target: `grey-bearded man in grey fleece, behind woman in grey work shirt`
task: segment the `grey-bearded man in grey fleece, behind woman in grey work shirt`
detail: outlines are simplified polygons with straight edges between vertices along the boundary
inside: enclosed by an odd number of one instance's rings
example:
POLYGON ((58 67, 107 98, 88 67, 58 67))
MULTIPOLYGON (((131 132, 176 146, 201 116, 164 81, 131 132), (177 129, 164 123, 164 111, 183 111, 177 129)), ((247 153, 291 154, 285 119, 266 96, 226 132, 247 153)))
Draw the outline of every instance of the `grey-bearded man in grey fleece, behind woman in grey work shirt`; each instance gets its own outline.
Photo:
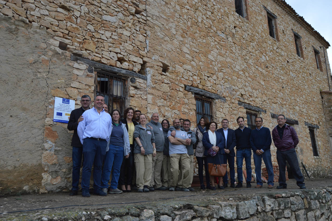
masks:
POLYGON ((161 166, 164 159, 163 151, 165 146, 165 138, 161 123, 159 123, 159 114, 153 113, 151 116, 151 121, 146 125, 152 127, 157 151, 156 156, 152 157, 152 177, 149 190, 154 191, 154 187, 157 190, 166 190, 167 187, 161 185, 161 166))

